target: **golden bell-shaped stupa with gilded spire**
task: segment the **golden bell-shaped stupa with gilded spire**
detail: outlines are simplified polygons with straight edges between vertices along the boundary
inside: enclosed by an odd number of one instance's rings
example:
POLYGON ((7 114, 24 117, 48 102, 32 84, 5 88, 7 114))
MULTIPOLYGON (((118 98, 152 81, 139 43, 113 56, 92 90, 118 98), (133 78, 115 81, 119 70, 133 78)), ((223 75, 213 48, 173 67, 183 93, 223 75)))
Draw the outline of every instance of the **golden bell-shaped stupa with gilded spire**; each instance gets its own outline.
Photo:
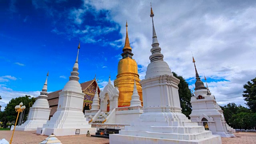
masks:
POLYGON ((123 53, 121 54, 122 60, 118 62, 118 72, 116 80, 114 80, 114 86, 118 87, 119 90, 118 107, 130 106, 134 86, 134 76, 138 94, 142 102, 142 87, 139 83, 140 79, 138 75, 138 66, 136 61, 132 59, 133 54, 132 48, 130 47, 127 27, 128 24, 126 21, 126 38, 123 53))

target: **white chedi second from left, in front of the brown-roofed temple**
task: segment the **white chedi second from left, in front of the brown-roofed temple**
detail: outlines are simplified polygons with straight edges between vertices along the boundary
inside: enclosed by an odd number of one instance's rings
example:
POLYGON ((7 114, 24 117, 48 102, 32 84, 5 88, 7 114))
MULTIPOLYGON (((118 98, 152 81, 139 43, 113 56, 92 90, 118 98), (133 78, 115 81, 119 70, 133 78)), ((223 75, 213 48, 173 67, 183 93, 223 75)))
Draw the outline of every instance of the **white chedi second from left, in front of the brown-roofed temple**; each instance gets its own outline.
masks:
POLYGON ((56 136, 69 136, 77 134, 87 134, 96 132, 96 128, 91 128, 88 121, 84 117, 83 102, 84 93, 82 93, 82 87, 78 82, 78 53, 80 49, 80 42, 78 45, 78 52, 76 62, 69 77, 69 81, 66 83, 61 92, 59 92, 59 101, 57 111, 52 118, 43 125, 42 128, 38 128, 37 134, 56 136))

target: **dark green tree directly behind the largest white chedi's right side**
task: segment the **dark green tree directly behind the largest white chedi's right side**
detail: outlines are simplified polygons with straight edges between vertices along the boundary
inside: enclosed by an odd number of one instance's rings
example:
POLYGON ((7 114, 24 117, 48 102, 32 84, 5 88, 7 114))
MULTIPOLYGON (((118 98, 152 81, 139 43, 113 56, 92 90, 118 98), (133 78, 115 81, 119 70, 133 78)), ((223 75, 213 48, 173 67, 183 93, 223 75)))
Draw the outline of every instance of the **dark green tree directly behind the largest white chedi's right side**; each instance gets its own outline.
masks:
POLYGON ((178 92, 180 96, 180 107, 182 108, 182 113, 185 114, 188 118, 190 118, 189 115, 192 112, 192 106, 190 103, 192 93, 188 88, 188 83, 186 82, 186 80, 182 76, 178 76, 178 74, 176 74, 175 72, 172 73, 173 76, 180 80, 180 83, 178 84, 178 92))

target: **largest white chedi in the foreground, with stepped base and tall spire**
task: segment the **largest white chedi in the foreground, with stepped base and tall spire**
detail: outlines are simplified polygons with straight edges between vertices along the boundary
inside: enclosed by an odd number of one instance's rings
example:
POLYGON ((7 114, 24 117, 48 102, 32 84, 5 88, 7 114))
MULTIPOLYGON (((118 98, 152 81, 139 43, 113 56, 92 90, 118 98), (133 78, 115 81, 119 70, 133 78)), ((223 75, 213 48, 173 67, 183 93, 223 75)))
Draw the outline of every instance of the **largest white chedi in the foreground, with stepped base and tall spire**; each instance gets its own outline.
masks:
POLYGON ((182 114, 175 78, 166 62, 156 37, 153 23, 153 42, 150 64, 141 80, 143 114, 119 134, 110 134, 110 144, 221 144, 220 136, 212 136, 203 126, 191 122, 182 114))

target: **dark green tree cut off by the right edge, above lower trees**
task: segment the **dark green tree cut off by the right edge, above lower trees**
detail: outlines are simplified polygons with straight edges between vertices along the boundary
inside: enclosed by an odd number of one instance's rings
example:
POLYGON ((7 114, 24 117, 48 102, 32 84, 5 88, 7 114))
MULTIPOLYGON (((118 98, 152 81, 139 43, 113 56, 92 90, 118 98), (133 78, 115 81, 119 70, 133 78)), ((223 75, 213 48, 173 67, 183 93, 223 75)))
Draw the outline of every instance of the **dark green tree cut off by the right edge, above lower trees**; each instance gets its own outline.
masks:
POLYGON ((246 101, 246 105, 252 110, 252 112, 256 112, 256 78, 248 81, 247 84, 244 84, 244 100, 246 101))

